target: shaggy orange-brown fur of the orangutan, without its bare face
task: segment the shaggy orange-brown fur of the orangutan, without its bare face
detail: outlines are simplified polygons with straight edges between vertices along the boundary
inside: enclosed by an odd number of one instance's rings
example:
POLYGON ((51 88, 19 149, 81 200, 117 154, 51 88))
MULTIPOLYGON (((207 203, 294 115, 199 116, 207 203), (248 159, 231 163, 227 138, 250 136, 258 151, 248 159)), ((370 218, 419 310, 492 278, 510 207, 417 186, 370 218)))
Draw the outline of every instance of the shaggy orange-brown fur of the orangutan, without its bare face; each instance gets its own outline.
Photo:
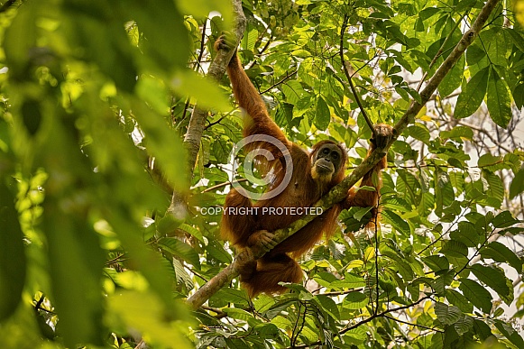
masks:
MULTIPOLYGON (((217 43, 219 43, 217 41, 217 43)), ((311 152, 306 152, 299 145, 290 142, 268 115, 263 104, 262 98, 246 76, 242 69, 240 60, 234 54, 229 63, 227 72, 233 85, 234 96, 238 104, 246 112, 244 121, 244 136, 252 134, 271 135, 282 142, 290 151, 293 161, 293 173, 290 184, 280 195, 271 199, 256 202, 254 205, 250 199, 243 197, 236 190, 232 189, 225 198, 225 208, 227 207, 311 207, 324 194, 344 179, 345 161, 347 155, 342 147, 341 165, 329 177, 315 178, 315 167, 312 159, 316 158, 316 153, 323 144, 334 143, 332 141, 318 142, 311 152)), ((252 144, 253 148, 263 148, 270 151, 275 157, 274 161, 266 164, 263 170, 271 170, 271 175, 275 180, 268 189, 278 186, 284 178, 285 169, 283 168, 282 154, 272 144, 268 142, 258 142, 252 144)), ((372 186, 372 172, 379 172, 386 166, 385 158, 373 170, 368 172, 363 178, 363 185, 372 186)), ((380 184, 377 191, 380 189, 380 184)), ((354 190, 348 192, 348 197, 340 204, 331 207, 321 216, 318 216, 308 225, 291 235, 283 242, 276 245, 269 253, 266 253, 256 262, 245 264, 240 271, 241 282, 249 295, 254 297, 258 293, 283 292, 286 289, 279 285, 280 281, 300 282, 302 280, 302 270, 295 262, 304 253, 307 253, 322 238, 323 234, 329 237, 336 228, 336 219, 340 211, 349 206, 375 206, 378 194, 371 191, 354 190)), ((277 229, 289 226, 299 219, 299 215, 262 215, 262 209, 257 215, 229 215, 227 212, 223 216, 221 234, 223 238, 234 243, 237 248, 251 247, 253 239, 250 236, 261 230, 274 232, 277 229)), ((258 235, 257 235, 258 236, 258 235)), ((256 243, 254 243, 256 244, 256 243)))

